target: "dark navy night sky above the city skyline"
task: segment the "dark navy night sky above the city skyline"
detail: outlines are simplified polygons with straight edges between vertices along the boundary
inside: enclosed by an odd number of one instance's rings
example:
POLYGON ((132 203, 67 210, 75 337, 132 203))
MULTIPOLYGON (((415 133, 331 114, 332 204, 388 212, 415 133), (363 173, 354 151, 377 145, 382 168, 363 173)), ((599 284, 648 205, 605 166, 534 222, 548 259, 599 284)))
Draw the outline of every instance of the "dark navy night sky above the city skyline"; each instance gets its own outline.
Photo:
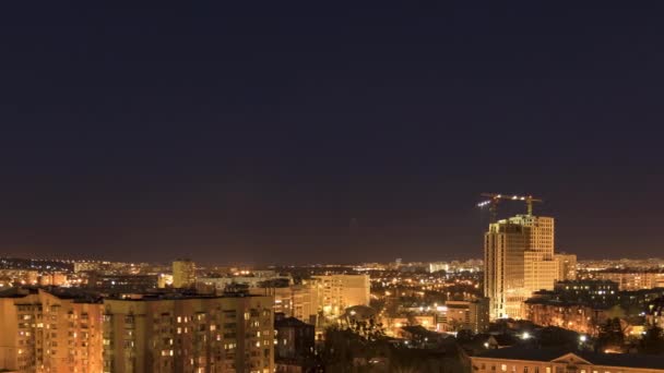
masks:
POLYGON ((501 192, 663 256, 655 1, 103 3, 0 10, 2 255, 479 257, 501 192))

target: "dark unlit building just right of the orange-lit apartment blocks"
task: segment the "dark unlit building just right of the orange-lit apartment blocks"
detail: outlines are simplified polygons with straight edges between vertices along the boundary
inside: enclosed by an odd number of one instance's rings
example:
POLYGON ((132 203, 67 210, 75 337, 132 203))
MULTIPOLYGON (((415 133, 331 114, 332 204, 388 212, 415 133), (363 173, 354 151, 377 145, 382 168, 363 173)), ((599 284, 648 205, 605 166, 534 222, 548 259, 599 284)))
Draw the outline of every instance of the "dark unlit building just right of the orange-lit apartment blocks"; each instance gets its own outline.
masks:
POLYGON ((316 327, 276 313, 274 330, 276 372, 310 372, 316 365, 316 327))

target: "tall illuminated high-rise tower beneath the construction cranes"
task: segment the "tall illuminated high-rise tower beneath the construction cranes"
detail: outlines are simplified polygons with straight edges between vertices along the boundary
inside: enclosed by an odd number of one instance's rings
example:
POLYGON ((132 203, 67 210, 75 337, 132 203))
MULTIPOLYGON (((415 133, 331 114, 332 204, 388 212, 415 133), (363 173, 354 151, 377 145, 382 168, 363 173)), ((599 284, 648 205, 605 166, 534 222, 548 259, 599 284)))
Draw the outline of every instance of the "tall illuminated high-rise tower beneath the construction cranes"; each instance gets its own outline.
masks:
POLYGON ((484 238, 484 294, 491 318, 521 317, 534 291, 553 290, 554 218, 517 215, 489 225, 484 238))

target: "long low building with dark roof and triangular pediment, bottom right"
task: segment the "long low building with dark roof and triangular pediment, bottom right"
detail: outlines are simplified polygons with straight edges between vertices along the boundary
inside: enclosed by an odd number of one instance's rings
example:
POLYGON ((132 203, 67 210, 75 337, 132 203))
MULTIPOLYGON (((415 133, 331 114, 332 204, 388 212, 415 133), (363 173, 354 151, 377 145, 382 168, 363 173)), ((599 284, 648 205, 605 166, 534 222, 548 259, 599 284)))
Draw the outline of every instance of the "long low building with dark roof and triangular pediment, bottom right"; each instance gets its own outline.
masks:
POLYGON ((471 357, 478 373, 647 373, 664 372, 664 357, 631 353, 591 353, 559 349, 509 347, 471 357))

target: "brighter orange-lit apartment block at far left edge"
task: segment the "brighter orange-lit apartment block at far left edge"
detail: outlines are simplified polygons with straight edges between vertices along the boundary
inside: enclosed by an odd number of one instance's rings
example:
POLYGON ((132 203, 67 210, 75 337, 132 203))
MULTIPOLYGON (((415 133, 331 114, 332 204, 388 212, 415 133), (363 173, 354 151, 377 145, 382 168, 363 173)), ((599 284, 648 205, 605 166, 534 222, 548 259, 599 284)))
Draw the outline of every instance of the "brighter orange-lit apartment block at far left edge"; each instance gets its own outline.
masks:
POLYGON ((9 289, 0 293, 0 369, 103 372, 98 300, 84 293, 9 289))

